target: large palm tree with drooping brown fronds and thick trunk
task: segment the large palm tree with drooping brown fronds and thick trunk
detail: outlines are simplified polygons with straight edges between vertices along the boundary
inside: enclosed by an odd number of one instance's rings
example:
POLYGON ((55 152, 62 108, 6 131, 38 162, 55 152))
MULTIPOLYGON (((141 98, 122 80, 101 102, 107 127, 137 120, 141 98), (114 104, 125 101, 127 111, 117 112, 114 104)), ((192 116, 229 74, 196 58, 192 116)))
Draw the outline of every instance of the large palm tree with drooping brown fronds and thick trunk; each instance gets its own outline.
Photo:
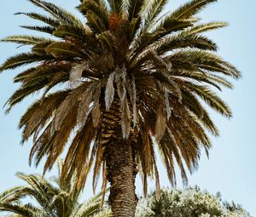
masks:
POLYGON ((211 146, 207 132, 218 135, 205 103, 231 117, 213 88, 231 89, 226 78, 240 77, 201 34, 226 23, 200 23, 195 16, 216 0, 192 0, 166 15, 167 0, 80 0, 85 20, 52 3, 29 1, 48 15, 18 14, 46 25, 22 27, 45 34, 4 38, 30 49, 10 57, 0 71, 33 64, 14 78, 21 86, 7 102, 9 112, 41 93, 19 125, 22 142, 33 137, 30 163, 46 157, 45 172, 67 145, 62 180, 75 172, 75 186, 82 188, 93 168, 95 188, 102 171, 102 188, 111 185, 113 216, 134 216, 137 171, 145 192, 148 176, 159 189, 155 147, 172 184, 175 161, 187 182, 186 168, 192 172, 201 148, 211 146))

